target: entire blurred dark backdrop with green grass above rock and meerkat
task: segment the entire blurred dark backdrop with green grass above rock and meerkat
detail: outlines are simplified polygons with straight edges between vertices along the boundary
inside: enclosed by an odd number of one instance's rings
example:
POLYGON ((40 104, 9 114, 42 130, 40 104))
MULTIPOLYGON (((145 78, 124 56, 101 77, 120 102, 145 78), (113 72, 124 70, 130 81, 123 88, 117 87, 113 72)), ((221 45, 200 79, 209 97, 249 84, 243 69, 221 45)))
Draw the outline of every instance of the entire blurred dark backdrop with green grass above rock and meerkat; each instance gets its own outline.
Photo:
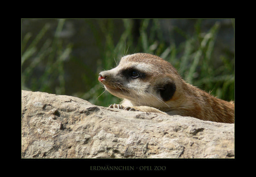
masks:
POLYGON ((98 75, 143 52, 169 61, 188 83, 235 101, 234 32, 234 19, 21 19, 21 89, 118 103, 98 75))

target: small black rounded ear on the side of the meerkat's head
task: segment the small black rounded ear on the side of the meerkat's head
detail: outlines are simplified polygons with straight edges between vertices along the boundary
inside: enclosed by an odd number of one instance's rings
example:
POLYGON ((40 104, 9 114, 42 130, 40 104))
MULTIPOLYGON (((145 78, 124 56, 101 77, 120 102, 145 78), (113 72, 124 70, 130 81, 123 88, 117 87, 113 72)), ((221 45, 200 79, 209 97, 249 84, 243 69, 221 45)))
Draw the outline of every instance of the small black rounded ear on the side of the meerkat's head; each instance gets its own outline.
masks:
POLYGON ((161 88, 159 88, 160 96, 164 101, 168 101, 172 98, 176 90, 176 85, 173 81, 164 83, 161 88))

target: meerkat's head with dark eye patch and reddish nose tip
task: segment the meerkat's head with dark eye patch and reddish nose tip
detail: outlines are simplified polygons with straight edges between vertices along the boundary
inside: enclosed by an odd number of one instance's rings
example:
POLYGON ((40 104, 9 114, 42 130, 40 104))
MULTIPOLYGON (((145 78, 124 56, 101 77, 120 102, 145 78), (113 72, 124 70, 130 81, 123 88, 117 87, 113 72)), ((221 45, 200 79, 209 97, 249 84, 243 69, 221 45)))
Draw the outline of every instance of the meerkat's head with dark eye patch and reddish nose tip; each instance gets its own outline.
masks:
POLYGON ((124 56, 116 68, 100 72, 98 78, 112 95, 152 107, 172 99, 177 79, 179 74, 169 62, 145 53, 124 56))

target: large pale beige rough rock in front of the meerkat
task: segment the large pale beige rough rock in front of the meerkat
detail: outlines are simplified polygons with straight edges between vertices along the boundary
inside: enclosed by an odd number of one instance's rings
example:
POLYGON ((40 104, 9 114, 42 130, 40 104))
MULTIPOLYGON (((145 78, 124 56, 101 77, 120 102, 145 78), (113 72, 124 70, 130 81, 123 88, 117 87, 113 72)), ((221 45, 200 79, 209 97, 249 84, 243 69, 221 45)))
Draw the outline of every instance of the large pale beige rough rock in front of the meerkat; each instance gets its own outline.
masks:
POLYGON ((21 158, 234 158, 234 124, 22 90, 21 158))

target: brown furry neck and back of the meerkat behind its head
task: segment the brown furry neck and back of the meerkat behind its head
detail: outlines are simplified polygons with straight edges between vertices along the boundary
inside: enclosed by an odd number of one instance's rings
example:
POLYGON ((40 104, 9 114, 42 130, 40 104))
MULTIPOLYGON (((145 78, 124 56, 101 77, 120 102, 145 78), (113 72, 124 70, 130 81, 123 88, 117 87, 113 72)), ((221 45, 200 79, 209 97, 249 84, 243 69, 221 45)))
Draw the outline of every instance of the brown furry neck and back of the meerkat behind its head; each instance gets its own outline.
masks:
MULTIPOLYGON (((183 92, 180 93, 182 96, 179 96, 179 98, 182 97, 182 99, 178 98, 175 100, 175 106, 172 104, 172 101, 168 103, 173 114, 176 113, 182 116, 190 116, 215 122, 234 123, 234 119, 230 119, 230 117, 234 118, 235 106, 232 104, 233 102, 218 99, 187 83, 182 87, 183 92), (206 112, 208 116, 205 115, 206 112)), ((165 111, 165 108, 161 111, 165 111)))

